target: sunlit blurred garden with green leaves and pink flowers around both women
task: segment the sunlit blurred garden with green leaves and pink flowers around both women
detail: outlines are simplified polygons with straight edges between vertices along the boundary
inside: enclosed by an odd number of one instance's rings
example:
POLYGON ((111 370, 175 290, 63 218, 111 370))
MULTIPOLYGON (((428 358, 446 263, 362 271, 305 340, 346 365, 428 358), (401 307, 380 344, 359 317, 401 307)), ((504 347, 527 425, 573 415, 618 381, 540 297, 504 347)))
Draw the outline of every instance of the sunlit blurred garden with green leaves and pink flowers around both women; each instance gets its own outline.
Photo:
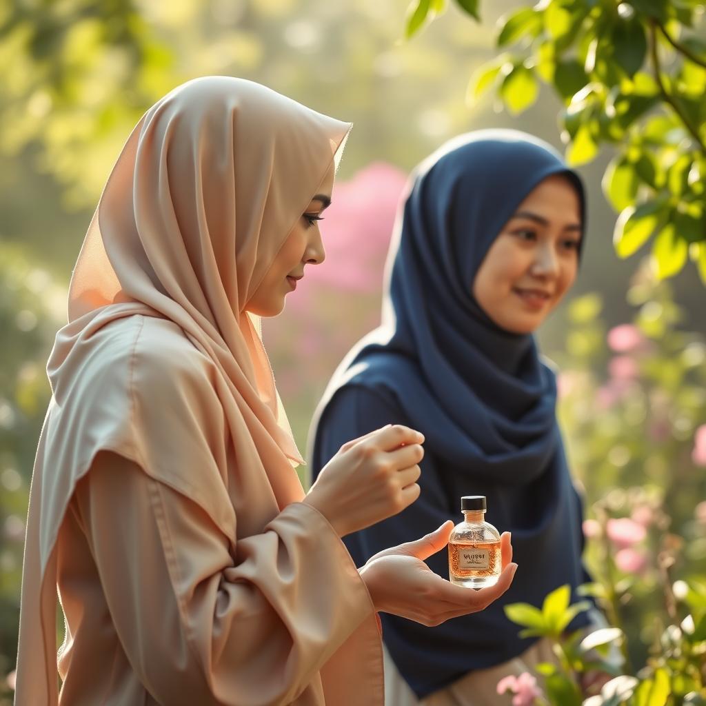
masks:
MULTIPOLYGON (((205 74, 354 122, 321 224, 327 262, 264 324, 302 449, 330 373, 379 321, 409 170, 475 128, 568 152, 587 184, 587 242, 539 341, 561 371, 586 497, 587 592, 616 628, 594 642, 624 658, 614 695, 591 706, 706 703, 703 15, 692 0, 0 0, 0 704, 71 268, 132 126, 205 74)), ((568 662, 546 675, 546 698, 580 704, 570 677, 585 653, 556 637, 568 662)))

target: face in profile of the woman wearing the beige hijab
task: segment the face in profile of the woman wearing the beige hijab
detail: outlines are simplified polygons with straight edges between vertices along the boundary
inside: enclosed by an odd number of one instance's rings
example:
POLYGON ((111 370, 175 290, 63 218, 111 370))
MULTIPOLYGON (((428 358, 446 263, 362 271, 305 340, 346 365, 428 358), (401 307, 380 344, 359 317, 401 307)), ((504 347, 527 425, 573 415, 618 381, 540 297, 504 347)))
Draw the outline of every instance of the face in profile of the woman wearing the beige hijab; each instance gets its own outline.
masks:
POLYGON ((318 229, 321 213, 331 203, 335 166, 329 167, 318 193, 289 232, 268 273, 245 306, 258 316, 277 316, 285 308, 285 297, 304 277, 304 265, 320 265, 326 253, 318 229))

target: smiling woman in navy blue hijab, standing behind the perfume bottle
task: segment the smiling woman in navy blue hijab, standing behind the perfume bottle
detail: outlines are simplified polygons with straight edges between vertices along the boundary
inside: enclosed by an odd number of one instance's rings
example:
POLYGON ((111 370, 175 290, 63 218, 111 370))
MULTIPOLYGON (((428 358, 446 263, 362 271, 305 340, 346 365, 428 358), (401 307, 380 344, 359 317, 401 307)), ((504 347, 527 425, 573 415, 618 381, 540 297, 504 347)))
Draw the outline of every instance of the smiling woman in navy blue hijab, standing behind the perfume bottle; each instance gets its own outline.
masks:
MULTIPOLYGON (((349 438, 388 423, 419 429, 421 496, 346 537, 354 560, 459 522, 461 496, 484 495, 489 522, 512 532, 519 568, 505 596, 481 613, 436 628, 383 615, 388 704, 498 703, 499 678, 552 659, 546 641, 518 637, 503 606, 541 606, 563 584, 575 601, 589 580, 555 373, 532 335, 573 284, 584 237, 579 177, 525 133, 460 136, 409 182, 383 325, 349 353, 321 402, 313 475, 349 438)), ((429 566, 447 577, 445 551, 429 566)), ((588 622, 580 614, 570 628, 588 622)))

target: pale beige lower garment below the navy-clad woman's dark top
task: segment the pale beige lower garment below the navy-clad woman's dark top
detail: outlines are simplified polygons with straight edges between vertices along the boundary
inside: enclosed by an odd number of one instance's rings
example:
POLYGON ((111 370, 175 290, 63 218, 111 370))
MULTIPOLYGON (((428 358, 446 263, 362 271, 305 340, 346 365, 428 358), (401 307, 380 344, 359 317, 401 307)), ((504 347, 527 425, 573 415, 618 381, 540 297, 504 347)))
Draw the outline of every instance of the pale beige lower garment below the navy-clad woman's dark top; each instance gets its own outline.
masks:
POLYGON ((540 662, 554 662, 551 643, 546 638, 538 640, 529 650, 522 652, 510 662, 489 669, 469 672, 446 688, 435 691, 423 700, 418 700, 393 662, 387 648, 383 649, 385 664, 385 706, 505 706, 512 702, 512 695, 498 695, 496 687, 503 676, 520 676, 523 671, 535 674, 534 667, 540 662))

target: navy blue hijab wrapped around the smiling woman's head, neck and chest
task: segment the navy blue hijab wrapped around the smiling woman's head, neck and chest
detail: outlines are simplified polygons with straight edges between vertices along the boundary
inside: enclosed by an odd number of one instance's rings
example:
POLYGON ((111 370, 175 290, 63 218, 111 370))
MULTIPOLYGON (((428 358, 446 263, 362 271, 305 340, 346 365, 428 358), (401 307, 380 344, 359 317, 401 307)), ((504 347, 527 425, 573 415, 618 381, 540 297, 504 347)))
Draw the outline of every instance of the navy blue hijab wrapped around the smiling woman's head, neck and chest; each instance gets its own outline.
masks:
POLYGON ((449 472, 474 479, 527 484, 563 456, 554 372, 532 335, 499 328, 472 295, 503 225, 552 174, 575 187, 585 227, 580 178, 526 133, 468 133, 423 162, 397 220, 383 325, 344 361, 325 400, 343 385, 382 384, 449 472))

